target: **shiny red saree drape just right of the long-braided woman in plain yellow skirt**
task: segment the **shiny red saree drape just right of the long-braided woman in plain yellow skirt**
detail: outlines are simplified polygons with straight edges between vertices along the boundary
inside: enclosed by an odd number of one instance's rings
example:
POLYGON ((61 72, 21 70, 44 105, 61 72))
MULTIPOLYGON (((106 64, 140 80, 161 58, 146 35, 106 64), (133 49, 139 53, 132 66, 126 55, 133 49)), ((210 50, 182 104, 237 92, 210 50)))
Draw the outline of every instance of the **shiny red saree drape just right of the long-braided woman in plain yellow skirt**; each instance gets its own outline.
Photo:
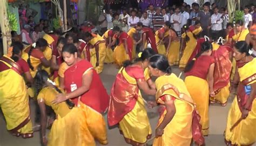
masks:
POLYGON ((230 61, 229 45, 223 45, 212 52, 212 57, 215 60, 214 67, 214 84, 213 90, 219 91, 221 88, 228 85, 230 82, 230 74, 232 69, 232 62, 230 61))

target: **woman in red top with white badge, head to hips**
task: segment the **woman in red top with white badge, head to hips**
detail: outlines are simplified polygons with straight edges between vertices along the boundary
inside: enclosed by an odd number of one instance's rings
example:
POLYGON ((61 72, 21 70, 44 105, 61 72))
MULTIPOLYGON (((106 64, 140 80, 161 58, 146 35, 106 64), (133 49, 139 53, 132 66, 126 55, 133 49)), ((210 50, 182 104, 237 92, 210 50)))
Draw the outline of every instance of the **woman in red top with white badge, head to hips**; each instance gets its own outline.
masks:
POLYGON ((81 101, 98 113, 104 113, 109 105, 109 95, 90 62, 77 57, 77 48, 73 44, 64 46, 62 56, 69 66, 64 72, 67 94, 59 94, 55 103, 71 99, 78 105, 78 101, 81 101))

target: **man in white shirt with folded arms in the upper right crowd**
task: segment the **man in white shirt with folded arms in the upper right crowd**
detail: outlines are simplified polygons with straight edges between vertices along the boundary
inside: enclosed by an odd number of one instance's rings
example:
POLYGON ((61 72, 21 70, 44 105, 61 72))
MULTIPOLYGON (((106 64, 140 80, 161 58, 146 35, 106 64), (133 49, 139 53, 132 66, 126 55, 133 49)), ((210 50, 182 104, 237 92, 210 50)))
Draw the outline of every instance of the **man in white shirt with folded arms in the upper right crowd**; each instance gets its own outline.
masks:
POLYGON ((214 13, 211 16, 212 33, 219 33, 222 30, 223 18, 221 18, 222 15, 219 13, 218 7, 215 7, 213 11, 214 13))

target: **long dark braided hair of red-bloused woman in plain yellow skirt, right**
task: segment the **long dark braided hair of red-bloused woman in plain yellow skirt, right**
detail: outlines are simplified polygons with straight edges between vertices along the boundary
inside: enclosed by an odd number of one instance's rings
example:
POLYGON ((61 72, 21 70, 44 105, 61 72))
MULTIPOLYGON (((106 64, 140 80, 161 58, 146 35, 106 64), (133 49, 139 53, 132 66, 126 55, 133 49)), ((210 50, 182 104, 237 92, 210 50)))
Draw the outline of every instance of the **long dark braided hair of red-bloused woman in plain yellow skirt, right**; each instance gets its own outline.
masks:
MULTIPOLYGON (((201 54, 203 54, 204 52, 208 51, 208 50, 212 50, 212 44, 210 43, 210 41, 207 39, 202 45, 201 45, 201 52, 197 53, 196 57, 194 57, 195 59, 197 59, 198 57, 200 57, 201 54)), ((196 60, 191 60, 190 62, 188 62, 188 64, 186 65, 186 67, 184 68, 184 72, 189 72, 192 67, 194 66, 194 62, 196 60)))

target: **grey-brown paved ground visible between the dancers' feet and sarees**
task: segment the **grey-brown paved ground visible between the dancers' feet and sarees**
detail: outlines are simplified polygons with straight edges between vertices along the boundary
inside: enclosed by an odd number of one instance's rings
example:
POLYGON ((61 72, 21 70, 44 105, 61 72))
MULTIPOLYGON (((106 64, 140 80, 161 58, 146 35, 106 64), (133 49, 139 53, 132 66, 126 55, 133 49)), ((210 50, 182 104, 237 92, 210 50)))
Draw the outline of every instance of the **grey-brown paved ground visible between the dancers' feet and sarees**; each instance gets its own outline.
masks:
MULTIPOLYGON (((110 92, 110 89, 112 87, 112 83, 114 81, 117 71, 118 70, 114 67, 114 65, 105 65, 103 73, 100 74, 103 84, 108 92, 110 92)), ((176 75, 179 75, 180 70, 177 67, 174 67, 173 73, 175 73, 176 75)), ((181 78, 184 79, 184 75, 181 75, 181 78)), ((144 99, 152 100, 153 97, 144 96, 144 99)), ((226 107, 221 107, 218 104, 210 106, 210 113, 209 113, 210 114, 210 135, 206 137, 207 146, 225 145, 223 132, 226 127, 228 109, 230 108, 232 101, 233 101, 233 98, 232 99, 230 98, 226 107)), ((158 121, 158 113, 156 112, 156 108, 154 109, 147 108, 147 112, 150 118, 150 123, 151 123, 153 136, 154 136, 154 129, 158 121)), ((33 105, 33 103, 31 103, 31 113, 32 113, 32 119, 33 119, 35 114, 35 106, 33 105)), ((105 115, 105 119, 106 119, 106 115, 105 115)), ((119 134, 118 128, 112 128, 112 129, 108 128, 107 134, 109 139, 108 145, 111 145, 111 146, 127 145, 125 144, 123 136, 119 134)), ((149 142, 149 144, 151 143, 152 141, 149 142)), ((6 130, 3 115, 0 114, 0 146, 5 146, 5 145, 8 145, 8 146, 40 145, 39 133, 37 132, 34 134, 33 138, 29 138, 25 140, 21 137, 11 136, 6 130)))

